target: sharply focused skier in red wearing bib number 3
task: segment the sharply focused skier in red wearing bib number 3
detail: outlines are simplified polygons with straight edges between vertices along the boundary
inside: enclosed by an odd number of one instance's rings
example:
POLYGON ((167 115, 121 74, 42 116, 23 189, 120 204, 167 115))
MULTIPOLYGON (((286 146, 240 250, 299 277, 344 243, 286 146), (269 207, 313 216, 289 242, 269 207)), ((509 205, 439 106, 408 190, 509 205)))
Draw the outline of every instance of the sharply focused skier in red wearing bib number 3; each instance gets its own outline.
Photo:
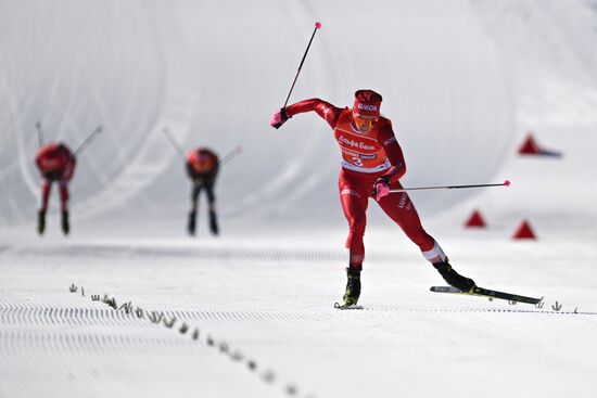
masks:
POLYGON ((352 108, 341 108, 312 99, 277 111, 270 120, 272 127, 279 128, 292 116, 313 111, 333 129, 342 151, 340 201, 350 227, 346 240, 350 249, 346 269, 348 282, 344 304, 356 305, 360 295, 360 271, 365 258, 363 236, 369 197, 373 197, 383 211, 419 246, 423 257, 448 284, 469 292, 475 286, 474 282, 452 268, 437 242, 421 226, 408 194, 389 194, 390 189, 402 188, 399 179, 406 174, 406 164, 392 123, 380 115, 381 101, 381 95, 372 90, 358 90, 352 108))

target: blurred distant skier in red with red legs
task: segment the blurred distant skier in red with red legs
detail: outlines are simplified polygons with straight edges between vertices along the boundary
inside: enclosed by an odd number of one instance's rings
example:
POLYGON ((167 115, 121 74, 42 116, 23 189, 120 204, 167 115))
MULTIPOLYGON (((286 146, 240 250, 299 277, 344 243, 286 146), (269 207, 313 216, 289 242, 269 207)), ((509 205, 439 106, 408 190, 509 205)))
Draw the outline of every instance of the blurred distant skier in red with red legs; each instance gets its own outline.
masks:
POLYGON ((35 163, 43 178, 41 183, 41 208, 37 215, 37 231, 42 234, 46 229, 46 211, 53 182, 59 183, 60 206, 62 210, 62 232, 68 234, 68 182, 75 172, 75 155, 60 142, 52 142, 39 149, 35 163))

